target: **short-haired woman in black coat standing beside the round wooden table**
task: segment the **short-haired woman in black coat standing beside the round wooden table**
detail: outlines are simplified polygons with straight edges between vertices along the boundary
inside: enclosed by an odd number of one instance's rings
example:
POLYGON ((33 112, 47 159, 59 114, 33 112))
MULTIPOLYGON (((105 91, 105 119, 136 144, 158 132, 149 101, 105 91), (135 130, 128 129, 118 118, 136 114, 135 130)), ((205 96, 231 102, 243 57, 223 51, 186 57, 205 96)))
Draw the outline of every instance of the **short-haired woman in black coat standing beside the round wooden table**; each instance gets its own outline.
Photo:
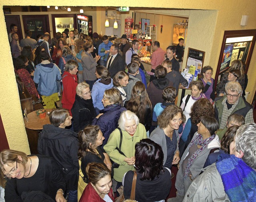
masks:
POLYGON ((66 129, 71 125, 72 116, 66 109, 55 109, 50 113, 51 124, 43 126, 38 138, 38 153, 56 160, 66 181, 68 201, 77 201, 79 164, 77 158, 77 133, 66 129))

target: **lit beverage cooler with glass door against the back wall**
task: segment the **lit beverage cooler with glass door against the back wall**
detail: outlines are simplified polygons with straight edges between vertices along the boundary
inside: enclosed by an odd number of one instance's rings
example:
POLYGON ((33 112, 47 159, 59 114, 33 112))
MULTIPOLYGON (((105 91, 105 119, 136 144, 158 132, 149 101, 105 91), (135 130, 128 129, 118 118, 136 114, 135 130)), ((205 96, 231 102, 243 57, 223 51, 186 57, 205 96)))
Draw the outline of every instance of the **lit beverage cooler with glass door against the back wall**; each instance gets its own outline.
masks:
POLYGON ((77 29, 79 33, 92 37, 92 16, 77 15, 77 29))

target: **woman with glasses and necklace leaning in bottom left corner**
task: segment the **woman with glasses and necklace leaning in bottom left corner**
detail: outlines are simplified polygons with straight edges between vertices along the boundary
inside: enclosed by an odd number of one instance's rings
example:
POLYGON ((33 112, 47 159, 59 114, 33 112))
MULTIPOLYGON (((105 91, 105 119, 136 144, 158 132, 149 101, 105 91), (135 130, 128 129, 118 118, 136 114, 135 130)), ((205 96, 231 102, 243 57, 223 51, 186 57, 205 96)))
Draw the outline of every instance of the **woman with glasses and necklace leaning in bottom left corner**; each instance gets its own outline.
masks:
POLYGON ((34 197, 44 195, 56 202, 66 201, 66 186, 60 169, 55 160, 46 156, 3 150, 0 153, 0 186, 5 188, 6 202, 22 202, 22 198, 31 197, 31 194, 34 197))

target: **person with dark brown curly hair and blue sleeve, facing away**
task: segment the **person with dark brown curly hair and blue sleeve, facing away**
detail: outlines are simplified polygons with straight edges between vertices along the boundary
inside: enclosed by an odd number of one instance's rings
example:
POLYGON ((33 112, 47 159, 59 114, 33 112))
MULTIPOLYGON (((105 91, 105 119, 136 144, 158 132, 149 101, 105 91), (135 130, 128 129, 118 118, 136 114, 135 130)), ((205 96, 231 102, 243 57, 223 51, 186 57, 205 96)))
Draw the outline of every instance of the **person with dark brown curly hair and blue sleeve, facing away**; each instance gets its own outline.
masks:
POLYGON ((197 132, 197 124, 200 122, 202 116, 214 117, 214 108, 209 100, 202 98, 197 100, 191 107, 190 118, 186 122, 182 136, 180 137, 179 150, 180 157, 192 140, 194 134, 197 132))

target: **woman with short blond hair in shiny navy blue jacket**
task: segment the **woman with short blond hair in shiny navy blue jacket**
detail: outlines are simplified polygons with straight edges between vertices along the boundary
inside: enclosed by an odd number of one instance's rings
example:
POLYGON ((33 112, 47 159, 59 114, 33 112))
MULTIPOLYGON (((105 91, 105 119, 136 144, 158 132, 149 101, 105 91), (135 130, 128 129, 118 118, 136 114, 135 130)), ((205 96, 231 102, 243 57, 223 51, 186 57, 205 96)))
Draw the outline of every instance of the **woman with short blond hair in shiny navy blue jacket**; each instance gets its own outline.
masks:
POLYGON ((92 120, 92 125, 100 126, 100 130, 105 138, 102 144, 104 146, 107 144, 110 134, 117 128, 120 115, 126 108, 121 106, 122 98, 119 90, 116 88, 105 90, 102 103, 104 109, 100 110, 101 114, 92 120))

